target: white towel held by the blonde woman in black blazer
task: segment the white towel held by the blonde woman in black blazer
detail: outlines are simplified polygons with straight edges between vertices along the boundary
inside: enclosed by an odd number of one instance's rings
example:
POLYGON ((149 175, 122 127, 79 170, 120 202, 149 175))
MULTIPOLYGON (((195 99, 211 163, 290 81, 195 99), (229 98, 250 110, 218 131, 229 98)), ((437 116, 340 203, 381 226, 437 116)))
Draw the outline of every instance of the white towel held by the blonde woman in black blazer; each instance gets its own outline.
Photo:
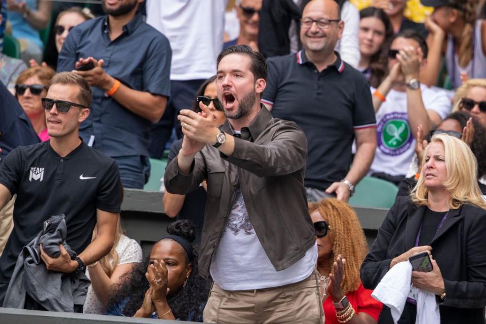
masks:
MULTIPOLYGON (((396 324, 409 295, 412 264, 408 261, 395 264, 381 279, 371 296, 390 307, 396 324)), ((418 291, 416 324, 440 324, 439 306, 432 293, 418 291)))

